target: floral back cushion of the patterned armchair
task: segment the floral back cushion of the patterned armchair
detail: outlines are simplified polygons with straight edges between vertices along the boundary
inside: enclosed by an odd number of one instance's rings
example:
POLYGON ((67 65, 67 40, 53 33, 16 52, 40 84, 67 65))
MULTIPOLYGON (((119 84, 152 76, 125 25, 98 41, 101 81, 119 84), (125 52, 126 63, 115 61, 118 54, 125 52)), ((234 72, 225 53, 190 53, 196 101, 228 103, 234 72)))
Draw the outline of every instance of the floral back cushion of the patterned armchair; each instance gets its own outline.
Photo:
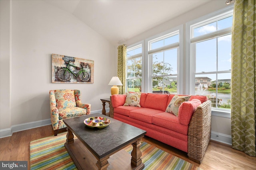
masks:
POLYGON ((54 90, 57 109, 65 109, 68 107, 76 107, 74 90, 54 90))

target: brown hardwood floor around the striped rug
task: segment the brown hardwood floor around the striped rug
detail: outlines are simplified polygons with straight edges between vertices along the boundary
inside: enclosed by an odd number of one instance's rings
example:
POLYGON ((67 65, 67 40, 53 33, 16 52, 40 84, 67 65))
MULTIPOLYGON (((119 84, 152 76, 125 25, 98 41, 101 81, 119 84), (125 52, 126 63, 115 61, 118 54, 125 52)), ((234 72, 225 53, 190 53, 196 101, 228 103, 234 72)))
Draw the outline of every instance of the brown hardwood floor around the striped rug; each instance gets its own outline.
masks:
MULTIPOLYGON (((13 133, 11 137, 0 139, 0 160, 28 161, 30 169, 30 141, 54 135, 51 125, 37 127, 13 133)), ((174 154, 204 170, 256 170, 256 157, 232 149, 231 146, 210 141, 201 164, 188 159, 186 152, 160 143, 149 137, 143 141, 154 145, 166 152, 174 154)))

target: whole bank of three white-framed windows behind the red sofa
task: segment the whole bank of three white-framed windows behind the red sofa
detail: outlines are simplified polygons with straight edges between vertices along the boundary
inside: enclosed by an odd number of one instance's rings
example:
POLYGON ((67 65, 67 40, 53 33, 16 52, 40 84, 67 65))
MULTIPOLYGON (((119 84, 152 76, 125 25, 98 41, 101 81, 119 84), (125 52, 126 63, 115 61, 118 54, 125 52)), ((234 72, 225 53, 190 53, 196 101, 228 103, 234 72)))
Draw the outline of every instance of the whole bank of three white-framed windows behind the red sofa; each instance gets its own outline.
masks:
POLYGON ((186 23, 186 32, 180 25, 128 46, 126 91, 204 95, 219 102, 213 115, 230 117, 233 8, 186 23))

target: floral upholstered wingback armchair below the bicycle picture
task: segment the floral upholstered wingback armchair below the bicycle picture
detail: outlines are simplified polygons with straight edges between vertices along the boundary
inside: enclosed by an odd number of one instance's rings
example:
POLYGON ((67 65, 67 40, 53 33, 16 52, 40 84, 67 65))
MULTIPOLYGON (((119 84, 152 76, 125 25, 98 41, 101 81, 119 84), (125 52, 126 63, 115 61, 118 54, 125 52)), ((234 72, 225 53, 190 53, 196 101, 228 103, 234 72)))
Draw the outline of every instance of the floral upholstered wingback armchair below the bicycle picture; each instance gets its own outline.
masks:
POLYGON ((50 90, 51 121, 54 136, 58 134, 58 129, 66 127, 63 119, 90 114, 91 105, 82 104, 80 98, 80 90, 50 90))

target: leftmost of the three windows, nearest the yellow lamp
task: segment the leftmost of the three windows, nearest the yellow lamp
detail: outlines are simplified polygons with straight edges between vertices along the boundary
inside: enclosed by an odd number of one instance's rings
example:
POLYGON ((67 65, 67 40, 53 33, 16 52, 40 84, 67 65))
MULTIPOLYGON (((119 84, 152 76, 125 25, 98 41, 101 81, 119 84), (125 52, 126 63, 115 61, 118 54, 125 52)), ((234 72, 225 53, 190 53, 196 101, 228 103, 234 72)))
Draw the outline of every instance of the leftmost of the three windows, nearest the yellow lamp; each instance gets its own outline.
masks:
POLYGON ((126 50, 126 92, 141 92, 142 44, 126 50))

